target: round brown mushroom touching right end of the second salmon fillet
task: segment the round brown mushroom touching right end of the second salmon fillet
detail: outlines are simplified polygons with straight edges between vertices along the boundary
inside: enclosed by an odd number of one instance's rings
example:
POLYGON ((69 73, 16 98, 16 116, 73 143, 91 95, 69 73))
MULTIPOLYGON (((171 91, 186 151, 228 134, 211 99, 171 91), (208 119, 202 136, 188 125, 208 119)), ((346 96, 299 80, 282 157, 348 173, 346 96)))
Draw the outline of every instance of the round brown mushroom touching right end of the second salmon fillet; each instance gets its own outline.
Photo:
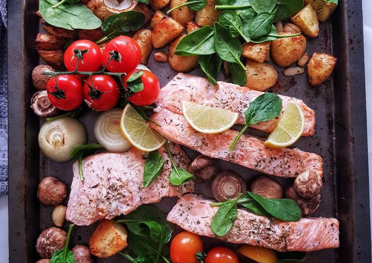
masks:
POLYGON ((316 172, 306 171, 297 176, 294 187, 299 195, 312 198, 319 195, 323 188, 323 182, 316 172))

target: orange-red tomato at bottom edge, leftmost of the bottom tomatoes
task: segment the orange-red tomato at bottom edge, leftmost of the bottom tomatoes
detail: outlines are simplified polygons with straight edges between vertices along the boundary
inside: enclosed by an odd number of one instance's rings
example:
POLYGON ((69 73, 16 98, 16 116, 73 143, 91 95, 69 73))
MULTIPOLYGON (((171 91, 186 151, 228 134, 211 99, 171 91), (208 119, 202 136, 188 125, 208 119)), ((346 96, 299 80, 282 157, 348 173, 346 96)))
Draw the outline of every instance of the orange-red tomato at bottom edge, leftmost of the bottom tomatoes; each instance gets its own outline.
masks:
POLYGON ((170 243, 172 263, 199 263, 195 253, 201 251, 203 251, 202 239, 187 231, 177 234, 170 243))

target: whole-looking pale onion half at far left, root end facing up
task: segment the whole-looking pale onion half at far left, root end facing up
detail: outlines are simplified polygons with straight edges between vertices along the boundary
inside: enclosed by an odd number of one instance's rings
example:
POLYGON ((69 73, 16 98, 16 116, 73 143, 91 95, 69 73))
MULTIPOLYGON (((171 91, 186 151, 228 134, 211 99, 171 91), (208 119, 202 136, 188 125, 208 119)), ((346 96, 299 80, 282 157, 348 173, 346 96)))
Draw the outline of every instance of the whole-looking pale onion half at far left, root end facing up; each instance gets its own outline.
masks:
POLYGON ((87 143, 87 131, 83 124, 71 117, 45 122, 39 132, 42 152, 56 162, 71 160, 72 151, 87 143))

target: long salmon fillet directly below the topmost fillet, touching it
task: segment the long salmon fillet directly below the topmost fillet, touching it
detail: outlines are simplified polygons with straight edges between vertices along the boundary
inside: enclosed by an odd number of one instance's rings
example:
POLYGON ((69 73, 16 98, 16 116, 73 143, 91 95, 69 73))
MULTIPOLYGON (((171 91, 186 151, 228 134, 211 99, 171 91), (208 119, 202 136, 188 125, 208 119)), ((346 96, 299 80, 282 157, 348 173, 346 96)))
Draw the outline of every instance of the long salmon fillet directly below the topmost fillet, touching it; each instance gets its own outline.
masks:
POLYGON ((297 177, 305 171, 323 175, 323 162, 319 155, 299 149, 271 149, 262 139, 243 135, 233 151, 229 146, 238 134, 227 130, 219 134, 203 134, 195 131, 183 115, 161 109, 151 119, 161 127, 150 123, 151 128, 173 142, 182 144, 203 155, 229 161, 247 168, 281 177, 297 177))

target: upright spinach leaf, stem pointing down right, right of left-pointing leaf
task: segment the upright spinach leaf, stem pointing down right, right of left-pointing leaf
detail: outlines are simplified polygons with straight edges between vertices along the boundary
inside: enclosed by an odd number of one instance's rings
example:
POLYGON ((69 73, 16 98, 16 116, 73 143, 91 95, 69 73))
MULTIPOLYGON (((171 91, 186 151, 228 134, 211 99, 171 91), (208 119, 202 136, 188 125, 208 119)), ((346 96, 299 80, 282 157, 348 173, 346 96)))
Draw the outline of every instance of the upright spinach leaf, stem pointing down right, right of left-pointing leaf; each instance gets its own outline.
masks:
POLYGON ((243 70, 246 70, 240 61, 242 44, 238 39, 231 38, 227 28, 217 22, 214 23, 214 48, 222 60, 239 64, 243 70))

